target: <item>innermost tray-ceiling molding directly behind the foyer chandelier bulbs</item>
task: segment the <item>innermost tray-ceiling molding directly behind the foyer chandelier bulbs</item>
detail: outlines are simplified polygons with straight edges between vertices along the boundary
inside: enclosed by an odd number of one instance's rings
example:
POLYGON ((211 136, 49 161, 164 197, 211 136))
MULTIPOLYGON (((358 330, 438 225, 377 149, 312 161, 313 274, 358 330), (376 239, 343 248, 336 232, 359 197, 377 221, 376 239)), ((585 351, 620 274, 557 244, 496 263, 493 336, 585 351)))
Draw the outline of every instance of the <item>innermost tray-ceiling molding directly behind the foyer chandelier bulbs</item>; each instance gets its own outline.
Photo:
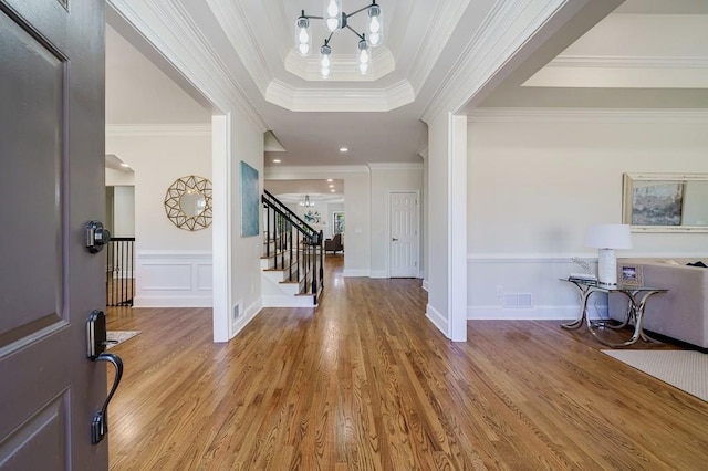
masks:
POLYGON ((372 54, 372 72, 362 75, 358 72, 358 59, 355 54, 332 54, 332 76, 322 78, 317 54, 301 56, 290 50, 285 56, 285 70, 308 82, 374 82, 396 70, 396 59, 386 46, 376 48, 372 54))

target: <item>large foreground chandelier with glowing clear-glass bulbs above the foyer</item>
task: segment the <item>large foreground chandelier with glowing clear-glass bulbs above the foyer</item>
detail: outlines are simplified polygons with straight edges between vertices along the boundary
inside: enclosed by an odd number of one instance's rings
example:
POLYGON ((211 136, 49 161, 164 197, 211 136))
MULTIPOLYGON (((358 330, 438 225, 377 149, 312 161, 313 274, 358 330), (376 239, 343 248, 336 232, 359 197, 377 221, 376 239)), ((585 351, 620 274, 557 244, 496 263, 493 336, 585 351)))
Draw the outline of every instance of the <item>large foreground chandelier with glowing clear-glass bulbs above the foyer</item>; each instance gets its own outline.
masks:
POLYGON ((331 62, 330 54, 332 48, 330 46, 330 40, 335 32, 348 29, 358 38, 357 43, 357 60, 358 71, 362 75, 366 75, 372 70, 372 57, 369 48, 375 48, 382 44, 384 21, 382 15, 382 9, 376 4, 376 0, 373 0, 369 6, 360 8, 353 13, 345 13, 342 10, 342 0, 324 0, 324 14, 322 17, 313 17, 305 14, 302 10, 302 14, 298 18, 295 28, 295 49, 302 56, 310 54, 312 50, 312 34, 310 32, 310 20, 324 20, 324 24, 330 32, 330 36, 324 40, 324 44, 320 46, 320 73, 322 78, 329 78, 331 76, 331 62), (360 33, 348 24, 348 19, 366 11, 368 15, 368 22, 366 25, 366 32, 360 33))

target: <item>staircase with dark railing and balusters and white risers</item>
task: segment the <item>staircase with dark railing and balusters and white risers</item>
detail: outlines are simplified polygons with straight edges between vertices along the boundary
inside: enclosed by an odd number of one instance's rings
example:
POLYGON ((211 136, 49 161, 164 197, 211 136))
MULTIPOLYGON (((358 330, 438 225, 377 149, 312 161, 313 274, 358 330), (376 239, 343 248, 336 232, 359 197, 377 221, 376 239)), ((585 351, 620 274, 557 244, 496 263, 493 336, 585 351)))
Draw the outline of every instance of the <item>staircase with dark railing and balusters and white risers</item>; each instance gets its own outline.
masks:
POLYGON ((314 307, 322 295, 324 250, 315 231, 270 192, 266 209, 261 255, 264 307, 314 307))

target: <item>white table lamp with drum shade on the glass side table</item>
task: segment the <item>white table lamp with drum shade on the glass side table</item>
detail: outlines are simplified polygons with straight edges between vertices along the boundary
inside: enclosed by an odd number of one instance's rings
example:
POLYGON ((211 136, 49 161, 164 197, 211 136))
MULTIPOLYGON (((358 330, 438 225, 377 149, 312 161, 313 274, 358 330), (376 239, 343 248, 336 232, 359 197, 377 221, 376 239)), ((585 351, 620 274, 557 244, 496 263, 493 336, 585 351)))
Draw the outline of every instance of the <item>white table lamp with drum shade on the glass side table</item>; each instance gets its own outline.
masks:
POLYGON ((617 284, 617 254, 615 249, 632 249, 629 224, 595 224, 587 228, 585 247, 598 249, 597 283, 617 284))

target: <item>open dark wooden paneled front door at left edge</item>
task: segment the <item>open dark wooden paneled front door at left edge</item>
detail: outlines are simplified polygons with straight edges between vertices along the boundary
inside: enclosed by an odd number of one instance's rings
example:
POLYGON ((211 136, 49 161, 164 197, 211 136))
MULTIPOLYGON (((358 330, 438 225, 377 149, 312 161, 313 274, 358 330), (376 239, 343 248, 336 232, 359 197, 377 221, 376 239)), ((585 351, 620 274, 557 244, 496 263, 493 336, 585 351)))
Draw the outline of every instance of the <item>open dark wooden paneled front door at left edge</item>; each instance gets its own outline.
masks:
POLYGON ((0 0, 0 469, 107 469, 91 443, 105 306, 84 226, 104 199, 104 2, 0 0))

